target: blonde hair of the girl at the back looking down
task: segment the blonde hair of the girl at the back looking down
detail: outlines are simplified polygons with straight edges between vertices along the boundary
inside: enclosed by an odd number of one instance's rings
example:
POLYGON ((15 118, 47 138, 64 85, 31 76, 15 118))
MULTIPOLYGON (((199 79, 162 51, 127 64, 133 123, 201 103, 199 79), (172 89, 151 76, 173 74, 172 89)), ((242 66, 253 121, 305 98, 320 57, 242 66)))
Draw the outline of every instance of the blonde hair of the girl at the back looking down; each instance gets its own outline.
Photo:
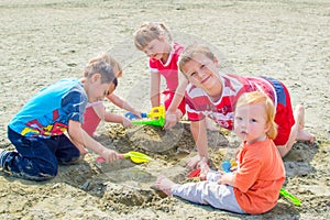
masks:
POLYGON ((172 42, 172 36, 168 29, 163 23, 145 22, 133 34, 134 44, 138 50, 143 51, 144 47, 153 40, 164 35, 168 42, 172 42))

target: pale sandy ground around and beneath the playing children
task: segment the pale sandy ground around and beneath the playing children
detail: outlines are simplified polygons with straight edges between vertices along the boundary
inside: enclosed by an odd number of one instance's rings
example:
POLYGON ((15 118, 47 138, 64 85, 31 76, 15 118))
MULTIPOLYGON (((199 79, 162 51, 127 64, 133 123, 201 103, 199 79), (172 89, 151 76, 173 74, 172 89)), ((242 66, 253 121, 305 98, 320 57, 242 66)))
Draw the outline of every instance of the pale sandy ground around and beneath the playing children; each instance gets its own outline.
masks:
MULTIPOLYGON (((101 124, 100 141, 119 152, 154 158, 95 163, 96 154, 61 166, 56 178, 34 183, 0 174, 0 219, 329 219, 330 218, 330 3, 327 0, 118 1, 1 0, 0 147, 12 148, 7 124, 38 89, 64 77, 80 77, 87 61, 110 51, 123 65, 116 91, 143 111, 150 109, 146 57, 133 46, 143 21, 163 21, 183 44, 204 42, 226 68, 245 76, 283 80, 293 103, 306 107, 309 146, 297 143, 284 158, 285 198, 272 211, 240 216, 165 197, 152 189, 158 174, 188 182, 185 160, 194 155, 187 121, 174 130, 101 124)), ((124 113, 107 102, 109 110, 124 113)), ((229 132, 209 132, 215 167, 238 145, 229 132)))

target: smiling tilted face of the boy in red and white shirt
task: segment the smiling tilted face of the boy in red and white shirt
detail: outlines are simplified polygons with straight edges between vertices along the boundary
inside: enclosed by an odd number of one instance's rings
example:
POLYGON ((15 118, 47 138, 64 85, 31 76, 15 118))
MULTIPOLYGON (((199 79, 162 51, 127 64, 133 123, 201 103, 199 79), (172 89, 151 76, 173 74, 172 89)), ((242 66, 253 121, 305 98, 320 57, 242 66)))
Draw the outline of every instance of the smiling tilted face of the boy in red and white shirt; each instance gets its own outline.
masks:
POLYGON ((212 61, 205 55, 196 55, 183 66, 183 72, 194 86, 202 88, 208 94, 216 87, 221 87, 217 59, 212 61))

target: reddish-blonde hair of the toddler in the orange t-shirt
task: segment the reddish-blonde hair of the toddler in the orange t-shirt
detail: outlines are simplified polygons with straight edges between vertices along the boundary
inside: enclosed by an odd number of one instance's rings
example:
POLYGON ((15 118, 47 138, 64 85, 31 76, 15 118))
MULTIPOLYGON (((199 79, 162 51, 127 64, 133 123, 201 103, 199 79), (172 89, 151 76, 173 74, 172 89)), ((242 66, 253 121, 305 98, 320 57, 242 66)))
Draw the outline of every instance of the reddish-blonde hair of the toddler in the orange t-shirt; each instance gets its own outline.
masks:
POLYGON ((266 110, 266 123, 270 124, 270 129, 266 132, 267 136, 274 140, 277 135, 277 124, 275 123, 275 107, 272 99, 260 91, 251 91, 243 94, 238 102, 237 107, 243 107, 248 105, 263 103, 266 110))

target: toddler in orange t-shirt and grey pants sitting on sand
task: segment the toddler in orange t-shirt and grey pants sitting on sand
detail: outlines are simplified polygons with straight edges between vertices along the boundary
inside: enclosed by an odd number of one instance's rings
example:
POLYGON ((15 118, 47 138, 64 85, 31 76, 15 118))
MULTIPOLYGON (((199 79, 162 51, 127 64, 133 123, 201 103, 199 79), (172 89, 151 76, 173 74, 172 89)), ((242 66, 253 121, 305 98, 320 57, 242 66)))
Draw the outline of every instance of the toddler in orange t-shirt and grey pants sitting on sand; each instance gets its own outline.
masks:
POLYGON ((285 180, 282 157, 272 141, 276 136, 273 101, 254 91, 240 97, 234 116, 234 131, 243 140, 237 154, 238 169, 221 173, 212 180, 174 184, 164 176, 156 188, 167 195, 210 205, 238 213, 258 215, 273 209, 285 180))

